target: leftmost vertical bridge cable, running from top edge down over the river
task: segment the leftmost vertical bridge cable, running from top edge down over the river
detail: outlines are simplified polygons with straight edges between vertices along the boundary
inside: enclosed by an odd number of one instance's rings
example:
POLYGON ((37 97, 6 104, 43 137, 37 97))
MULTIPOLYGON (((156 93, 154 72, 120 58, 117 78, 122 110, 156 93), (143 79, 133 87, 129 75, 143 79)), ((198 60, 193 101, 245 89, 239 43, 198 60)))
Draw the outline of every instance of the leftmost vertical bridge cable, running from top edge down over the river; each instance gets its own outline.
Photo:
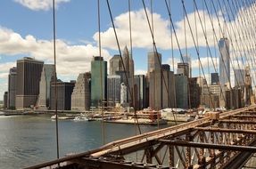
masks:
POLYGON ((56 145, 57 145, 57 158, 60 157, 59 151, 59 128, 58 128, 58 103, 57 103, 57 72, 56 72, 56 27, 55 27, 55 1, 53 0, 53 19, 54 19, 54 95, 55 95, 55 124, 56 124, 56 145))

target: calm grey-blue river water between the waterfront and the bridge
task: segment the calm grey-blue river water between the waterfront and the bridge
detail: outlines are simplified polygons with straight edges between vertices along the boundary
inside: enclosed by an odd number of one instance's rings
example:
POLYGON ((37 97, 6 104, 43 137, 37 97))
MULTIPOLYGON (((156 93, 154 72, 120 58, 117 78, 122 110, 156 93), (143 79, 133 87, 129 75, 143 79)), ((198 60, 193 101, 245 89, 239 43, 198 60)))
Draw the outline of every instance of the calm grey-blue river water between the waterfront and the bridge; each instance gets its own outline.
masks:
MULTIPOLYGON (((0 117, 0 168, 36 165, 56 158, 55 121, 51 116, 0 117)), ((166 127, 167 125, 161 126, 166 127)), ((140 125, 142 133, 157 126, 140 125)), ((59 121, 60 156, 84 152, 136 134, 135 125, 99 121, 59 121), (103 127, 104 126, 104 127, 103 127)))

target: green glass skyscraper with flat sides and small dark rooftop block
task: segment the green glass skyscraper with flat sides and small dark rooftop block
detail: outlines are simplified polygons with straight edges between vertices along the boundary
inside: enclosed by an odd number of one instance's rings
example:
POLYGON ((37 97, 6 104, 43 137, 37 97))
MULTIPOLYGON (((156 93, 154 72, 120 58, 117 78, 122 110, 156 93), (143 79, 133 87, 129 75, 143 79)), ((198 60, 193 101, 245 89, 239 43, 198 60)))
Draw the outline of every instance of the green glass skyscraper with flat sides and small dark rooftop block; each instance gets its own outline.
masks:
POLYGON ((107 62, 103 57, 95 56, 91 61, 91 107, 97 108, 106 101, 107 62), (102 77, 102 78, 101 78, 102 77))

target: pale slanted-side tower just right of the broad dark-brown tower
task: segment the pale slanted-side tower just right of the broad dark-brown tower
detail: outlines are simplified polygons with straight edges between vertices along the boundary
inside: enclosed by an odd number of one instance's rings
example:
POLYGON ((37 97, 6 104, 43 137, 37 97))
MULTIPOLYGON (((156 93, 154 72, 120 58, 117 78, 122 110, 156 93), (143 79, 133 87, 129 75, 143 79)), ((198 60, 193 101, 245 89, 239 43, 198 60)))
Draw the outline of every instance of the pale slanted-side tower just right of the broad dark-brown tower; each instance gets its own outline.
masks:
POLYGON ((50 107, 51 80, 54 79, 54 65, 44 64, 39 84, 39 95, 37 100, 38 109, 50 107))

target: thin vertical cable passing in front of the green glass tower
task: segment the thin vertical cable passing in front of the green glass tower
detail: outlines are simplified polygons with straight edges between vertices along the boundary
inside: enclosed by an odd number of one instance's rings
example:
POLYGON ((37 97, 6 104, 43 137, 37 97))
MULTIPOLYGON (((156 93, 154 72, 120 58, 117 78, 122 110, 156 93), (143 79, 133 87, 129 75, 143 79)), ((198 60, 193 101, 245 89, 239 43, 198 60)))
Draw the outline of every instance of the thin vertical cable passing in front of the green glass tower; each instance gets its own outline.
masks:
MULTIPOLYGON (((100 0, 97 1, 97 8, 98 8, 98 31, 99 31, 99 55, 102 57, 102 41, 101 41, 101 9, 100 9, 100 0)), ((103 110, 103 60, 100 60, 100 78, 101 78, 101 114, 102 114, 102 139, 103 139, 103 145, 105 144, 105 127, 104 127, 104 110, 103 110)), ((105 70, 104 70, 105 71, 105 70)), ((104 90, 105 91, 105 90, 104 90)))

